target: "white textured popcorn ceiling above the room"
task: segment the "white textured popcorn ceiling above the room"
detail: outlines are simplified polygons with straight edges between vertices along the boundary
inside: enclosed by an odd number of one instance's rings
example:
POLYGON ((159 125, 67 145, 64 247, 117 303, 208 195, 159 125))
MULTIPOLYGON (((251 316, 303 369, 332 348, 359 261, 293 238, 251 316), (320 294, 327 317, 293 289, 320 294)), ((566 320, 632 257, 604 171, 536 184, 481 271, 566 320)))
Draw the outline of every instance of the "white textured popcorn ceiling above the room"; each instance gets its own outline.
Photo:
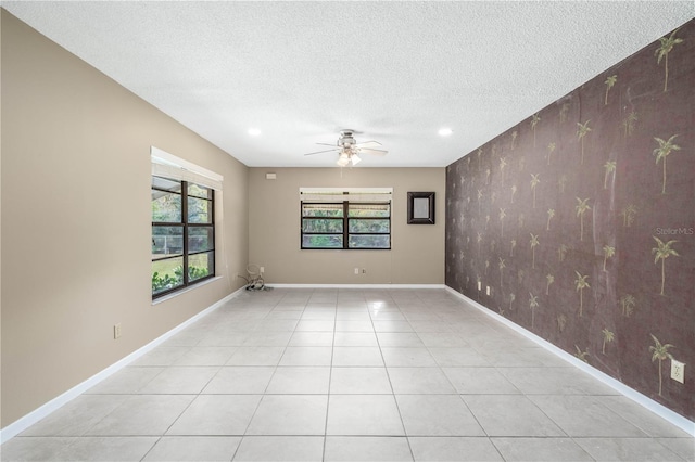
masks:
POLYGON ((695 17, 692 0, 2 7, 252 167, 334 166, 303 154, 341 129, 389 150, 358 168, 446 166, 695 17))

